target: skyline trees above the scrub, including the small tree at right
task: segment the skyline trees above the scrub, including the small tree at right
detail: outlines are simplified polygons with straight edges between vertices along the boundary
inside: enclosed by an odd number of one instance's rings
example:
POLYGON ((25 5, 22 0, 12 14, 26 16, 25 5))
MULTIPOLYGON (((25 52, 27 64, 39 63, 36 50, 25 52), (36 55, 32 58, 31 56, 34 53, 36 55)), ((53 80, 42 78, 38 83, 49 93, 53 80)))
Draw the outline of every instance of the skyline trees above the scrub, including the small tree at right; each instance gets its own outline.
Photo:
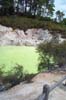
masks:
MULTIPOLYGON (((54 15, 54 1, 55 0, 0 0, 0 16, 17 15, 30 18, 38 16, 48 20, 48 18, 51 19, 54 15)), ((63 12, 56 12, 56 19, 58 19, 58 21, 62 21, 63 17, 63 12)))

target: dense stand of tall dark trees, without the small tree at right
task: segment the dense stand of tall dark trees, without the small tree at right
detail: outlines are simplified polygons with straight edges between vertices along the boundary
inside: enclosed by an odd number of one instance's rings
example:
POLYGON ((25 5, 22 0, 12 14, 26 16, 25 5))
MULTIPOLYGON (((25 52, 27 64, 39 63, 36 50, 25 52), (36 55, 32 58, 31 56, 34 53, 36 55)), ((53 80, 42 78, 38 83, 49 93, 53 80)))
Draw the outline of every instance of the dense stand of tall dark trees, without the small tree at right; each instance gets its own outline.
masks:
POLYGON ((27 14, 41 16, 44 13, 44 15, 50 16, 54 11, 54 0, 1 0, 0 5, 3 15, 22 13, 26 16, 27 14))

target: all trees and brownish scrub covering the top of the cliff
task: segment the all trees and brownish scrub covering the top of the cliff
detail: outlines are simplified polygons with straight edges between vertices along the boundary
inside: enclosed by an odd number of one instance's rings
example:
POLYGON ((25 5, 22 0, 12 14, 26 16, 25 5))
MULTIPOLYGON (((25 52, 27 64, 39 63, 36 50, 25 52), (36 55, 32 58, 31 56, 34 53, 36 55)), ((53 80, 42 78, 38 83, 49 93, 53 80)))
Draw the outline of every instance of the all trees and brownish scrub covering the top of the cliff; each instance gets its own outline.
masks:
POLYGON ((54 2, 55 0, 0 0, 0 24, 24 30, 43 28, 66 31, 64 12, 58 10, 52 19, 54 2))

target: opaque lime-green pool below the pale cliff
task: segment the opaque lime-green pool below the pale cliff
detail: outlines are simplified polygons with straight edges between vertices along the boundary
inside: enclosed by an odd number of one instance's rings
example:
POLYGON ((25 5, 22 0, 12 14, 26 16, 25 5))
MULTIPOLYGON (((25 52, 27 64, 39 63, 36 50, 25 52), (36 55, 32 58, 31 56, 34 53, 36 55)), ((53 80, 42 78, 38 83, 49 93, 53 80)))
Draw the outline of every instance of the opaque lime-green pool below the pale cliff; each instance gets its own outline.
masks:
POLYGON ((8 72, 15 65, 23 65, 28 73, 37 72, 38 54, 35 47, 4 46, 0 47, 0 66, 8 72))

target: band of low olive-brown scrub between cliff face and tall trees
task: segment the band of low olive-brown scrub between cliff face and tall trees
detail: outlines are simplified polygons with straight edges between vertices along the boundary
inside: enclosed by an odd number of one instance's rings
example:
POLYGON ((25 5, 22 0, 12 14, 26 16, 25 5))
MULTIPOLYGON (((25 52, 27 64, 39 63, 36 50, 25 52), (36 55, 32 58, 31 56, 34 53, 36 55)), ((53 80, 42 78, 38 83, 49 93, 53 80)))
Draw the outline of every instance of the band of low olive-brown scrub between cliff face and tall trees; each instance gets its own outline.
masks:
POLYGON ((43 28, 43 29, 49 29, 49 30, 57 30, 63 33, 63 31, 66 31, 65 25, 60 25, 57 23, 54 23, 52 21, 44 21, 43 19, 40 20, 38 18, 26 18, 26 17, 19 17, 19 16, 3 16, 0 17, 0 24, 5 26, 10 26, 19 29, 29 29, 29 28, 43 28))

